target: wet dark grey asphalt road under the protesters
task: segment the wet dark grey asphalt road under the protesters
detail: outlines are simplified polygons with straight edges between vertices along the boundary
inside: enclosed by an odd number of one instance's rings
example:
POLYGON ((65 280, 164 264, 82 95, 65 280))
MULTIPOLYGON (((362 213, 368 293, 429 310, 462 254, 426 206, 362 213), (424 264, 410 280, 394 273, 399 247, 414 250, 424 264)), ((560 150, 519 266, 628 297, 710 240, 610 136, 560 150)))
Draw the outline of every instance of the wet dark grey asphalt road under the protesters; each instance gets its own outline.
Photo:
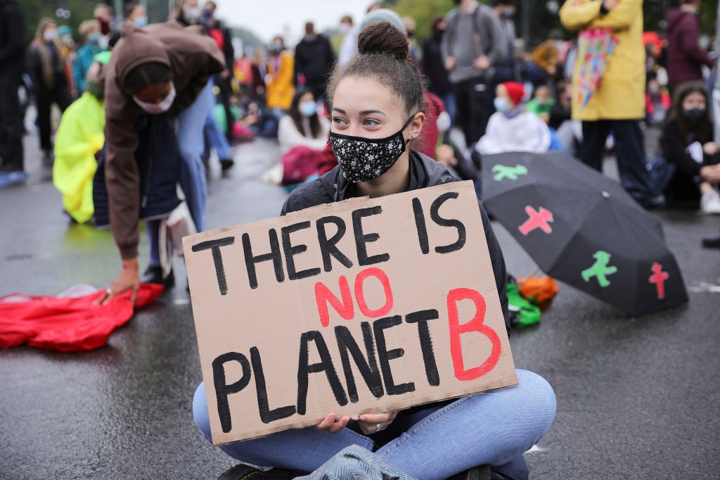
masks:
MULTIPOLYGON (((61 213, 36 145, 26 138, 30 179, 0 190, 0 295, 104 287, 120 268, 112 236, 61 213)), ((278 159, 273 143, 241 146, 235 159, 225 178, 212 165, 209 228, 276 216, 284 200, 259 180, 278 159)), ((557 394, 552 429, 526 454, 532 478, 720 476, 720 251, 699 246, 718 234, 720 218, 653 215, 683 269, 687 306, 628 318, 561 284, 541 325, 513 332, 516 366, 543 375, 557 394)), ((508 271, 526 275, 532 260, 495 230, 508 271)), ((0 350, 1 479, 214 479, 233 465, 192 421, 201 375, 184 267, 175 266, 176 288, 106 347, 0 350)))

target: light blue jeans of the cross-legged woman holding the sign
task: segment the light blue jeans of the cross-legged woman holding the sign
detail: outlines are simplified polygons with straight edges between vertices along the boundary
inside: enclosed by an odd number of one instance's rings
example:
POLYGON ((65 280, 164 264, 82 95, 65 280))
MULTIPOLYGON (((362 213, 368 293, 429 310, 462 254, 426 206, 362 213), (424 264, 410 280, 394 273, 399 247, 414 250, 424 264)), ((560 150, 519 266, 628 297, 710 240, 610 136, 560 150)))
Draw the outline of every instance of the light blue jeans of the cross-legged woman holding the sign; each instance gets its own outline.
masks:
MULTIPOLYGON (((379 448, 377 455, 423 480, 447 479, 473 466, 507 463, 537 443, 555 416, 555 395, 549 383, 526 370, 517 373, 518 386, 464 396, 408 416, 398 414, 387 428, 395 429, 397 436, 379 448)), ((202 383, 195 392, 193 414, 203 435, 211 440, 202 383)), ((376 435, 383 433, 387 435, 376 435)), ((335 434, 307 427, 220 449, 245 463, 310 472, 349 445, 372 450, 374 437, 350 427, 335 434)))

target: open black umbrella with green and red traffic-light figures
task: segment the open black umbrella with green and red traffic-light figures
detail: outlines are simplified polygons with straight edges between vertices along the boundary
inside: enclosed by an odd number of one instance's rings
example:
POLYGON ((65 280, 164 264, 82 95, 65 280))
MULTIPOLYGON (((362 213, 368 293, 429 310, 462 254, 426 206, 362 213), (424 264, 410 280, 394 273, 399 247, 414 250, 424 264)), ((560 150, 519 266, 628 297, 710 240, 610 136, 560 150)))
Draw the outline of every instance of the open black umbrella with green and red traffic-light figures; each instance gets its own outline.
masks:
POLYGON ((642 315, 688 301, 657 218, 572 156, 482 157, 482 202, 548 275, 642 315))

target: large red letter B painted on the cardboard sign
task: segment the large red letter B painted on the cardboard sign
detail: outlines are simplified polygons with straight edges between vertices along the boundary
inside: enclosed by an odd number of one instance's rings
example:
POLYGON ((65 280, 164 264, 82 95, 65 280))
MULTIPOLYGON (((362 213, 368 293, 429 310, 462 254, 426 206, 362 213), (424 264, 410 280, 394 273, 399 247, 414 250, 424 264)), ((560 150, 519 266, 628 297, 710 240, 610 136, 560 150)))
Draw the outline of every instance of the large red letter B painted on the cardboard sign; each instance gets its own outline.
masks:
POLYGON ((480 378, 490 372, 500 360, 500 337, 498 334, 483 323, 485 321, 485 298, 479 292, 469 288, 456 288, 448 293, 448 324, 450 328, 450 355, 455 369, 455 378, 459 381, 470 381, 480 378), (470 321, 460 324, 460 315, 457 303, 461 300, 470 300, 475 304, 475 314, 470 321), (465 368, 462 357, 462 343, 460 336, 469 332, 479 332, 490 339, 492 350, 490 356, 482 365, 474 368, 465 368))

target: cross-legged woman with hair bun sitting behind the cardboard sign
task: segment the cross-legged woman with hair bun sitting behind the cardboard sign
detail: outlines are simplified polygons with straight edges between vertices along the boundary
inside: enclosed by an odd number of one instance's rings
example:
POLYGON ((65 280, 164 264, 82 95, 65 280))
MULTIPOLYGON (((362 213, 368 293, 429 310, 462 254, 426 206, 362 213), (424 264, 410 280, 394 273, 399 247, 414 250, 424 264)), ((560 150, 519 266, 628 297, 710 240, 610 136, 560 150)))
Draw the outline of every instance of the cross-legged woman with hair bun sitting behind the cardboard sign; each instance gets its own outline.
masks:
MULTIPOLYGON (((402 29, 402 20, 398 23, 402 29)), ((457 181, 444 166, 413 148, 426 120, 423 82, 410 63, 407 37, 393 25, 372 22, 364 27, 358 36, 358 54, 336 66, 326 101, 332 115, 330 144, 339 165, 294 190, 282 214, 457 181)), ((508 324, 503 252, 482 205, 480 215, 508 324)), ((552 387, 535 373, 517 373, 519 385, 490 394, 361 414, 356 419, 328 413, 314 427, 276 432, 220 449, 243 463, 300 472, 317 470, 351 445, 366 450, 371 461, 395 466, 401 472, 394 478, 403 472, 415 479, 447 479, 466 472, 462 475, 466 478, 469 468, 480 465, 502 471, 511 458, 543 437, 555 412, 552 387)), ((204 437, 211 440, 202 383, 194 396, 193 414, 204 437)))

